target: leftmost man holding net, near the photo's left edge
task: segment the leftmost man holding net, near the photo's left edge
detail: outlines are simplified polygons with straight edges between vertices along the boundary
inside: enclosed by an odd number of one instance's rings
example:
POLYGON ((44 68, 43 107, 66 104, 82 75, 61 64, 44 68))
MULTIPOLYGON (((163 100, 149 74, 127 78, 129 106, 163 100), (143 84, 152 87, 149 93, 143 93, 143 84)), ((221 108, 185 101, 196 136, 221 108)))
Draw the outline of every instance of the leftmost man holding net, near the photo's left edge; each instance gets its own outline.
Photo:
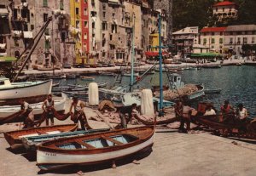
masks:
POLYGON ((32 128, 34 122, 34 114, 31 105, 29 105, 24 99, 19 100, 20 103, 20 117, 24 117, 24 127, 32 128))

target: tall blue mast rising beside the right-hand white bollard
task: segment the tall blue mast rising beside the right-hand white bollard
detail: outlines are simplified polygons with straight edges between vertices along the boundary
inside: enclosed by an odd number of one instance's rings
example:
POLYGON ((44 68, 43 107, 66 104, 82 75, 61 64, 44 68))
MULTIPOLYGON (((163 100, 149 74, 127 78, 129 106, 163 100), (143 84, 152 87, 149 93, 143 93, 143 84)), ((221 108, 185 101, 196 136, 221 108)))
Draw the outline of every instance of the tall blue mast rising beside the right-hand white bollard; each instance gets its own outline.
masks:
POLYGON ((162 69, 162 43, 161 43, 161 14, 158 14, 158 37, 159 37, 159 77, 160 77, 160 112, 159 115, 163 116, 163 69, 162 69))

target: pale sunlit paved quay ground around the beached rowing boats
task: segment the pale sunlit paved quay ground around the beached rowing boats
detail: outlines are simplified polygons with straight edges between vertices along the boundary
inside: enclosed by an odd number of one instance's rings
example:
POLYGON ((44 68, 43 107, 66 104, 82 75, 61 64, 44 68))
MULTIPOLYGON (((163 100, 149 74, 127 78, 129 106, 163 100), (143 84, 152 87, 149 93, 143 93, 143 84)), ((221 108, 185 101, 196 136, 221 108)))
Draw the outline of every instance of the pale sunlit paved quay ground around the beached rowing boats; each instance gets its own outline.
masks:
MULTIPOLYGON (((58 122, 59 123, 59 122, 58 122)), ((90 122, 94 127, 106 127, 102 122, 90 122)), ((3 138, 3 131, 18 126, 0 126, 0 174, 4 176, 78 175, 221 175, 254 176, 256 173, 256 145, 212 136, 208 133, 156 133, 153 151, 140 164, 125 163, 116 169, 108 166, 73 168, 69 173, 38 173, 35 158, 24 153, 15 154, 3 138)))

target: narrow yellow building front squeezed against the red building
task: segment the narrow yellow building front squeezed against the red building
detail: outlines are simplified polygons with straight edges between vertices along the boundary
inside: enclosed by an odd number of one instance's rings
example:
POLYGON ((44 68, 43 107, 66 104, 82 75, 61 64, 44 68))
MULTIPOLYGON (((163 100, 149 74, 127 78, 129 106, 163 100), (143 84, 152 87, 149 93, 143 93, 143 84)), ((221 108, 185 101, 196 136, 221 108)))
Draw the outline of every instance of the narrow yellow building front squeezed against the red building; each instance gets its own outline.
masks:
POLYGON ((70 31, 75 44, 76 63, 82 63, 82 41, 81 41, 81 3, 79 0, 70 0, 70 31))

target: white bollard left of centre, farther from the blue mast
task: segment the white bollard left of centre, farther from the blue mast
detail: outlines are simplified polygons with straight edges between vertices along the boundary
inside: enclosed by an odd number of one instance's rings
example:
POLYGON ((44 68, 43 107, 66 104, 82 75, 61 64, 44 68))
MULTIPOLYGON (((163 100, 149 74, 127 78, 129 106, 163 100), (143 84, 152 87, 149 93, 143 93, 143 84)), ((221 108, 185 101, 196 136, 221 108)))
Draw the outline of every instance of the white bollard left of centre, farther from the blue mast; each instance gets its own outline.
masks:
POLYGON ((89 84, 89 105, 99 105, 99 88, 96 82, 89 84))

